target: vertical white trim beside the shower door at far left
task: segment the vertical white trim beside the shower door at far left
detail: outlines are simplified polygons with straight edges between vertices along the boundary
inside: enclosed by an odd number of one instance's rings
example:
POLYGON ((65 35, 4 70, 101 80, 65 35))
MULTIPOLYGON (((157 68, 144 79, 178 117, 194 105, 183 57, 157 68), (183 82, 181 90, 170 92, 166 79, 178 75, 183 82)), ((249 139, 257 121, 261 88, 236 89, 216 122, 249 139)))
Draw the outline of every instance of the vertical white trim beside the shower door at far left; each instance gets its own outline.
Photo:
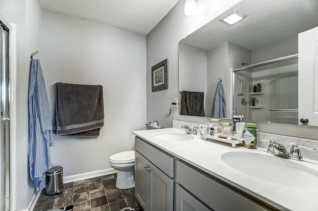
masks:
POLYGON ((10 210, 16 210, 16 25, 10 24, 10 210))

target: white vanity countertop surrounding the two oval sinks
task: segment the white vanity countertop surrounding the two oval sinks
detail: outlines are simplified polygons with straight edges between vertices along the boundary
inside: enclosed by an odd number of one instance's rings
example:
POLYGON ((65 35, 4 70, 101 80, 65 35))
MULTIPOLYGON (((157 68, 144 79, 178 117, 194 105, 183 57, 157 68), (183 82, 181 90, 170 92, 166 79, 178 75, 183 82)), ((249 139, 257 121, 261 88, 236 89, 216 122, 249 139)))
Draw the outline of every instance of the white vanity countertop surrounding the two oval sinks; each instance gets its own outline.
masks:
MULTIPOLYGON (((183 130, 166 128, 133 131, 133 134, 278 209, 318 211, 318 185, 316 187, 295 188, 261 180, 230 167, 221 159, 223 153, 231 151, 246 151, 274 156, 266 153, 266 149, 247 149, 239 145, 232 147, 229 143, 213 140, 207 141, 201 139, 200 136, 194 135, 191 135, 194 137, 191 141, 163 141, 155 137, 155 135, 162 132, 185 133, 183 130)), ((318 171, 318 161, 305 158, 304 161, 291 159, 288 161, 318 171)), ((270 169, 268 170, 270 171, 270 169)), ((318 183, 316 182, 315 184, 318 183)))

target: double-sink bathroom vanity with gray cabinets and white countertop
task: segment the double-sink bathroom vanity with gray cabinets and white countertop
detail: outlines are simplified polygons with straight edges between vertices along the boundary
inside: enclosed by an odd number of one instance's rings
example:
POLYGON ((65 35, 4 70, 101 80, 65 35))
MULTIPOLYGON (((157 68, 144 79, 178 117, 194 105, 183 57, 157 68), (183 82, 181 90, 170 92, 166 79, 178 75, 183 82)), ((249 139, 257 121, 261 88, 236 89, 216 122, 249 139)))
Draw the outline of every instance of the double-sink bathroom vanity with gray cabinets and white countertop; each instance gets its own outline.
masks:
POLYGON ((318 210, 317 161, 284 160, 266 153, 263 148, 232 147, 228 143, 186 135, 175 128, 134 131, 133 134, 136 135, 135 195, 145 211, 318 210), (255 162, 239 166, 251 169, 252 175, 232 165, 236 157, 241 162, 241 155, 246 154, 256 155, 255 162), (258 163, 263 158, 265 164, 258 163), (278 166, 279 172, 281 164, 271 169, 271 164, 276 162, 304 168, 310 172, 310 179, 306 175, 297 176, 291 177, 294 182, 289 182, 286 175, 293 174, 291 168, 282 169, 287 173, 282 174, 286 178, 279 178, 274 168, 278 166))

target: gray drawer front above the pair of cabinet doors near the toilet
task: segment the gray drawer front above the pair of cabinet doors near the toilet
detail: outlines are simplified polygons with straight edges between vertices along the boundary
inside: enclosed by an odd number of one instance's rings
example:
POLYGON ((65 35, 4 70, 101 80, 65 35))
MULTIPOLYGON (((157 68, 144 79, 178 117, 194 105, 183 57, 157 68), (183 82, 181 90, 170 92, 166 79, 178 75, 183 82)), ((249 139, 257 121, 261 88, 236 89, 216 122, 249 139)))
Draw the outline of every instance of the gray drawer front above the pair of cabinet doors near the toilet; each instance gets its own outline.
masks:
POLYGON ((135 149, 155 164, 170 178, 173 178, 173 157, 135 137, 135 149))

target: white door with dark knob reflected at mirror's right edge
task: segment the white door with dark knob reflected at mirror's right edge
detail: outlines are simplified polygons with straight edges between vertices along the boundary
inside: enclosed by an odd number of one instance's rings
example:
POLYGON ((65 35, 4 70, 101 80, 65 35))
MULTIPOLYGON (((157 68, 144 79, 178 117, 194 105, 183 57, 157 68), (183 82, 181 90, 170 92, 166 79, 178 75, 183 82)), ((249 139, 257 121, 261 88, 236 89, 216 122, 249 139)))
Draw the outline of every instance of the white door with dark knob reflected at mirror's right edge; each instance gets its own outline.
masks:
POLYGON ((318 126, 318 27, 298 35, 298 52, 298 121, 318 126))

